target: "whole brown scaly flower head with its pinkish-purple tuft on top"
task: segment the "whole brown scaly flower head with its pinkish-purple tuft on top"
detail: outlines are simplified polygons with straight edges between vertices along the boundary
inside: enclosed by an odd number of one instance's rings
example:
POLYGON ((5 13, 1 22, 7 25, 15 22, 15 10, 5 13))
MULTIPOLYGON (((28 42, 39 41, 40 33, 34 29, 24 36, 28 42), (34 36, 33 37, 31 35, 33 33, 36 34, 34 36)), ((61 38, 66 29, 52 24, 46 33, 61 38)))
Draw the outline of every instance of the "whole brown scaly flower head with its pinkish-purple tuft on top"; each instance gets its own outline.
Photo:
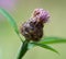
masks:
POLYGON ((21 25, 21 34, 25 39, 37 42, 43 36, 44 23, 47 22, 50 14, 43 9, 35 9, 32 17, 21 25))

